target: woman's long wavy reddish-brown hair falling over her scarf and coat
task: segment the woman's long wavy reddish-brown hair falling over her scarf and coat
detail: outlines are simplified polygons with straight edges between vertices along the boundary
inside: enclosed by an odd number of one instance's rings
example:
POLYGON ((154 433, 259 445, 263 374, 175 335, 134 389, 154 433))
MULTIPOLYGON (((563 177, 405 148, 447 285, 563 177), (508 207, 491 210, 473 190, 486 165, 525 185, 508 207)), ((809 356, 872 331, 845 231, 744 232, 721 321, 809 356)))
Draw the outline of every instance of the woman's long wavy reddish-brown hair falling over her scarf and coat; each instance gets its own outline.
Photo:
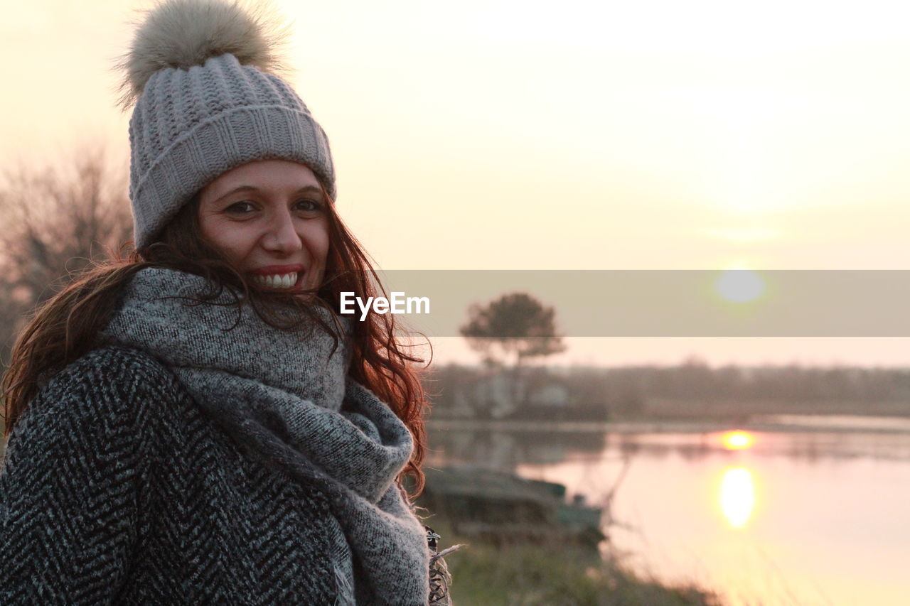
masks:
MULTIPOLYGON (((326 273, 316 303, 339 309, 342 291, 357 297, 385 295, 385 288, 371 260, 358 240, 335 212, 335 205, 323 189, 329 219, 329 256, 326 273)), ((235 304, 248 301, 258 316, 276 328, 290 328, 287 315, 278 313, 282 302, 308 312, 319 320, 300 298, 264 293, 248 281, 243 272, 231 266, 200 237, 199 196, 193 197, 172 219, 153 244, 124 254, 111 254, 112 260, 87 268, 66 288, 45 302, 15 339, 9 367, 0 389, 4 400, 5 439, 22 417, 28 402, 56 372, 96 347, 96 336, 116 310, 119 296, 130 279, 144 268, 171 268, 207 278, 210 289, 200 296, 204 302, 220 296, 227 288, 235 294, 235 304), (239 293, 243 293, 242 299, 239 293)), ((294 315, 298 319, 300 315, 294 315)), ((351 379, 359 381, 387 402, 414 438, 414 452, 399 477, 399 485, 410 476, 412 496, 420 494, 424 477, 420 466, 426 456, 424 413, 428 408, 415 363, 423 360, 405 352, 409 347, 399 337, 392 314, 368 314, 362 322, 352 322, 353 357, 351 379)), ((423 367, 424 369, 426 366, 423 367)))

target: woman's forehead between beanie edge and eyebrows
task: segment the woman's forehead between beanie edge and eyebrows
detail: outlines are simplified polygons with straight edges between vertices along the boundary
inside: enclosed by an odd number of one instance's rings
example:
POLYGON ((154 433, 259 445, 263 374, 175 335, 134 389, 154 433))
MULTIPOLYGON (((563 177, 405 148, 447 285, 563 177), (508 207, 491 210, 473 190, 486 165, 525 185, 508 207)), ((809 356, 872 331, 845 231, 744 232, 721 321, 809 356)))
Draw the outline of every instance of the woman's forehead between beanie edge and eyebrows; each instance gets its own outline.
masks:
POLYGON ((258 160, 231 168, 202 188, 201 200, 217 199, 238 187, 277 191, 297 191, 319 187, 319 179, 309 167, 289 160, 258 160))

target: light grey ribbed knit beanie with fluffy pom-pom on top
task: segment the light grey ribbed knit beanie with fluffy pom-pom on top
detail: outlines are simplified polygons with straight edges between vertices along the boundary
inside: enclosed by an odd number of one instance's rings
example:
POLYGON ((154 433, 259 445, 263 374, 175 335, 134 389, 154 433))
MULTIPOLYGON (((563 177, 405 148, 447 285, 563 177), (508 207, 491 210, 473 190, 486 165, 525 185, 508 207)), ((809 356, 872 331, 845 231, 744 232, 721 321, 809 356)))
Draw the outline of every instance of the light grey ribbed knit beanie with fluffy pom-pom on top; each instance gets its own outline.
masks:
POLYGON ((277 74, 279 36, 237 0, 165 0, 122 67, 136 248, 231 168, 271 158, 309 167, 335 199, 329 139, 277 74))

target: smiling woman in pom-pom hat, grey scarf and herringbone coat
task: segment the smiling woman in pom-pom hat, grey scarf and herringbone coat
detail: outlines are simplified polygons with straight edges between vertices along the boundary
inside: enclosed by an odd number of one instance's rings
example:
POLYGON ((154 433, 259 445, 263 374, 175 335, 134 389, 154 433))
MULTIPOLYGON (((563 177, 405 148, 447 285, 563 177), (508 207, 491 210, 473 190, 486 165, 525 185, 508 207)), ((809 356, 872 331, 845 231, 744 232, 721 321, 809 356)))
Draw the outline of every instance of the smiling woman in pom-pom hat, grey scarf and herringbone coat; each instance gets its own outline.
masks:
POLYGON ((136 251, 15 343, 0 603, 431 600, 401 488, 422 483, 419 360, 391 316, 335 312, 375 274, 272 45, 217 0, 169 0, 136 32, 136 251))

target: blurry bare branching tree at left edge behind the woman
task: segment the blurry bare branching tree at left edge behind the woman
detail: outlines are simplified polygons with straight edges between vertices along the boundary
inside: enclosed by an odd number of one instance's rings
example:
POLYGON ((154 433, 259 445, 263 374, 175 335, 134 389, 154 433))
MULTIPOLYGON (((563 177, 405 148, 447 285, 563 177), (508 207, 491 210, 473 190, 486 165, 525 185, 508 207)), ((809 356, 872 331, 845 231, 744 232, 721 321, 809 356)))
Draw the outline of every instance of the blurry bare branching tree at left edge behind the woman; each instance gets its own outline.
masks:
POLYGON ((30 311, 132 238, 126 174, 103 151, 80 149, 0 177, 0 361, 30 311))

